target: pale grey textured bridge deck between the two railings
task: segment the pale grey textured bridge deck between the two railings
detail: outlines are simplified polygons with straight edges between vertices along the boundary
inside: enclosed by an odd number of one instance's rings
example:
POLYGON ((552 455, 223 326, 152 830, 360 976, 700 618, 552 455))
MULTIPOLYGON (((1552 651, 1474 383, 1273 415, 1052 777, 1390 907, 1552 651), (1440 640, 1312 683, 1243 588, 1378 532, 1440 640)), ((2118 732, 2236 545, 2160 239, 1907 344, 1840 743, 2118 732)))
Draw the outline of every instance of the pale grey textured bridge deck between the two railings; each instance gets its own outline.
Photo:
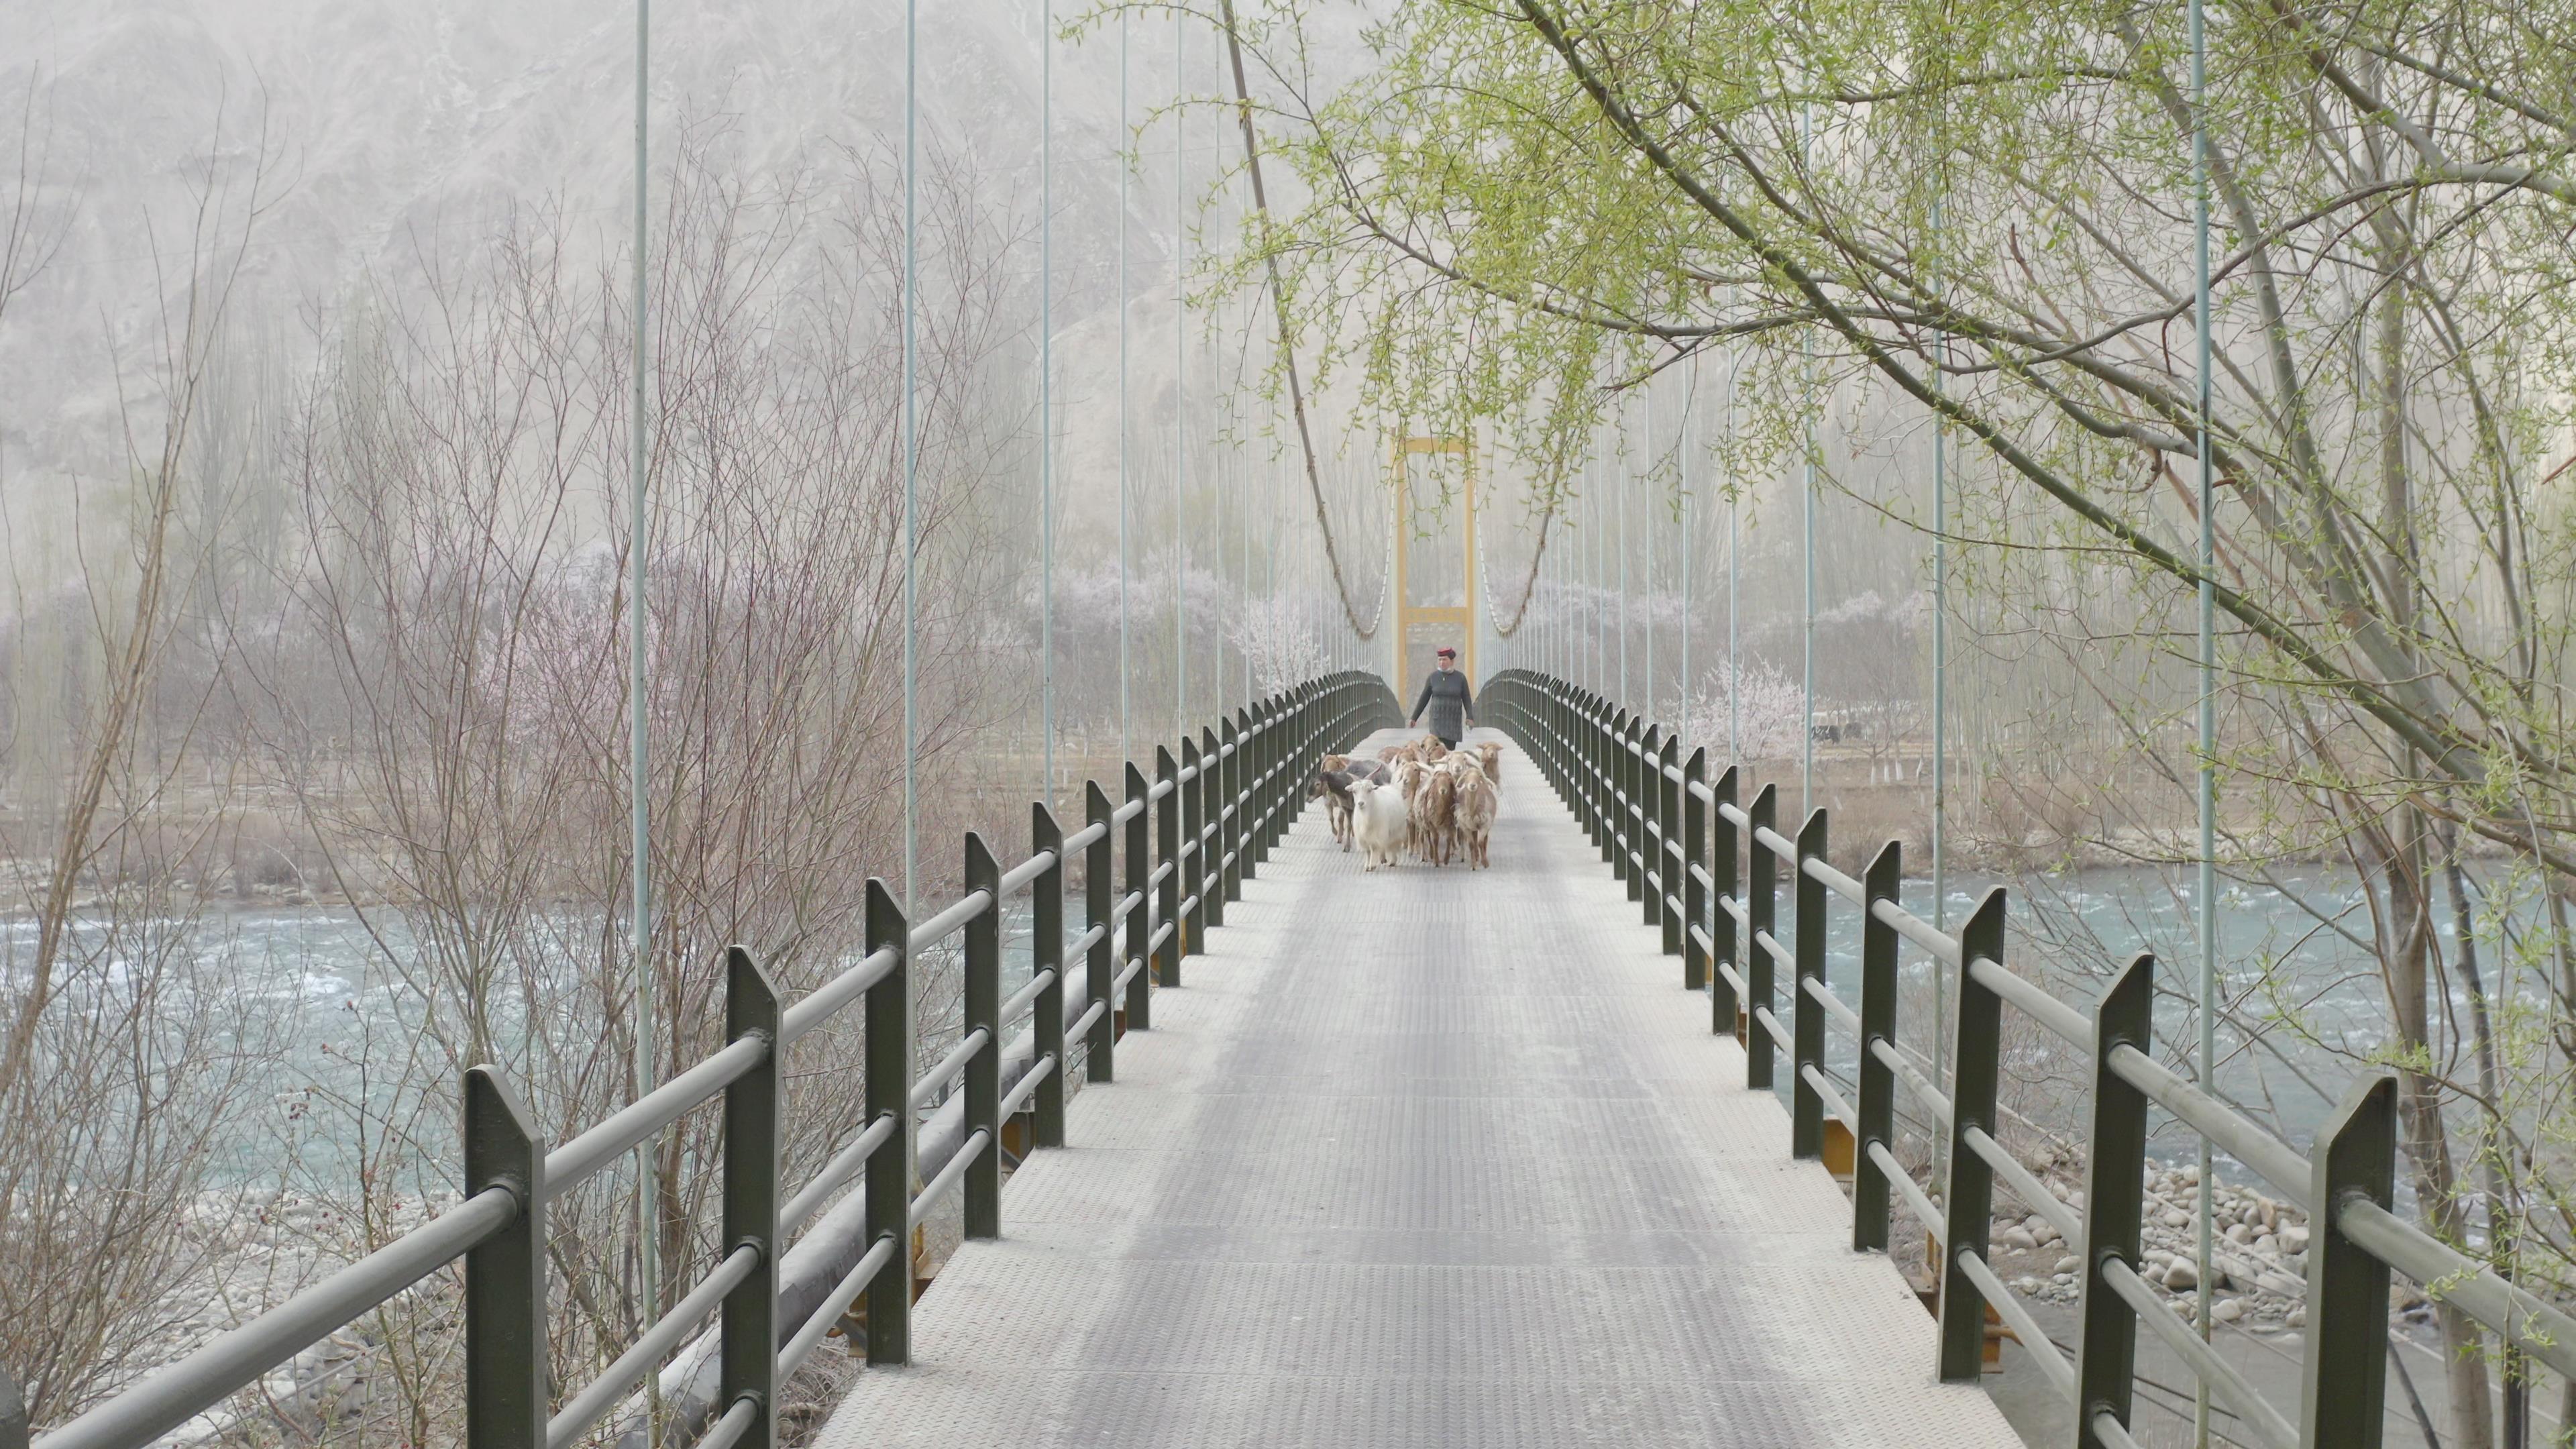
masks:
POLYGON ((822 1449, 2009 1446, 1538 771, 1494 869, 1309 817, 822 1449))

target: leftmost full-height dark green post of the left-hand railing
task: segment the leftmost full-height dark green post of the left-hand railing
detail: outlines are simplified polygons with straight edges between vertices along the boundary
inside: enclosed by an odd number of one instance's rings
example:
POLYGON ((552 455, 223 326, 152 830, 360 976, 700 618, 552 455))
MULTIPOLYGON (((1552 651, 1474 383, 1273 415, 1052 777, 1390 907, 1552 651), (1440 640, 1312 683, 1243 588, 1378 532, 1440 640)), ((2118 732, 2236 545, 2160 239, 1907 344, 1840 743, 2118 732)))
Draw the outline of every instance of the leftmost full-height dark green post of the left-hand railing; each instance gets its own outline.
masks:
POLYGON ((466 1196, 518 1199, 518 1217, 466 1253, 466 1449, 544 1449, 546 1147, 500 1067, 466 1067, 464 1140, 466 1196))

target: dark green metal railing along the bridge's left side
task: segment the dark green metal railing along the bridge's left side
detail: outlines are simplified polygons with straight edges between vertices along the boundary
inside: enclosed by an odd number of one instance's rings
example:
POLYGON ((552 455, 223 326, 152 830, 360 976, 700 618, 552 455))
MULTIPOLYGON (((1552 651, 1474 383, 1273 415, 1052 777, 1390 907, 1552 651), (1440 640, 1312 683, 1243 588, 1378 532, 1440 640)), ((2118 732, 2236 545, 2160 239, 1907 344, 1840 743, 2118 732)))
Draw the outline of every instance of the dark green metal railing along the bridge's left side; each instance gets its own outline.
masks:
MULTIPOLYGON (((775 1385, 866 1305, 871 1364, 912 1359, 912 1261, 907 1240, 948 1194, 963 1191, 969 1238, 1002 1230, 1002 1124, 1028 1114, 1036 1147, 1064 1145, 1066 1047, 1084 1052, 1084 1078, 1115 1073, 1118 1021, 1151 1021, 1151 985, 1180 985, 1182 957, 1224 923, 1270 848, 1303 807, 1314 761, 1373 727, 1396 722, 1396 699, 1365 673, 1334 673, 1252 704, 1221 724, 1157 750, 1157 779, 1126 766, 1126 799, 1084 786, 1084 825, 1064 835, 1030 807, 1028 859, 1002 869, 981 835, 966 835, 966 895, 912 926, 884 882, 866 892, 866 957, 786 1006, 750 951, 726 951, 724 1047, 598 1127, 546 1150, 497 1067, 464 1075, 466 1201, 376 1253, 209 1341, 33 1449, 142 1449, 222 1405, 358 1315, 464 1261, 464 1392, 471 1449, 564 1449, 608 1415, 708 1315, 721 1364, 698 1449, 768 1449, 775 1385), (1154 815, 1151 848, 1146 815, 1154 815), (1123 861, 1113 859, 1123 853, 1123 861), (1084 864, 1084 931, 1066 938, 1064 866, 1084 864), (1121 887, 1113 895, 1113 887, 1121 887), (1030 980, 1002 998, 1002 902, 1030 895, 1030 980), (1121 936, 1123 928, 1123 936, 1121 936), (963 938, 963 1036, 927 1073, 912 1062, 912 959, 958 931, 963 938), (1069 980, 1066 962, 1082 975, 1069 980), (1146 962, 1151 959, 1151 977, 1146 962), (860 1006, 866 1127, 781 1204, 778 1070, 786 1049, 840 1011, 860 1006), (1028 1036, 1005 1047, 1020 1018, 1028 1036), (1066 1018, 1072 1016, 1072 1021, 1066 1018), (1005 1062, 1025 1067, 1005 1075, 1005 1062), (961 1083, 963 1134, 945 1160, 917 1152, 925 1106, 961 1083), (721 1098, 724 1258, 654 1320, 598 1379, 559 1405, 546 1369, 546 1201, 608 1168, 652 1134, 721 1098), (920 1191, 912 1191, 925 1173, 920 1191), (786 1240, 853 1181, 866 1201, 868 1248, 811 1302, 783 1302, 786 1240)), ((28 1449, 26 1405, 0 1372, 0 1449, 28 1449)))

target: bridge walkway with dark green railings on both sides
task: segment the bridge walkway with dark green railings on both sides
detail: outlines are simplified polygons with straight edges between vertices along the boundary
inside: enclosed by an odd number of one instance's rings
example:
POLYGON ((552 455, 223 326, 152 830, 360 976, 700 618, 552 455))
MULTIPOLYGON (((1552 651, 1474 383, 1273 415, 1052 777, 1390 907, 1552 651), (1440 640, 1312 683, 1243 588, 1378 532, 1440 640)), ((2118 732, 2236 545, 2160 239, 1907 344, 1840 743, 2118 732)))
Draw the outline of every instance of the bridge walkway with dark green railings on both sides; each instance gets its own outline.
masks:
POLYGON ((781 1382, 832 1341, 868 1369, 822 1449, 2002 1446, 2022 1436, 1978 1385, 2007 1338, 2069 1444, 2138 1441, 2154 1343, 2226 1441, 2375 1446, 2393 1281, 2576 1366, 2576 1323, 2391 1212, 2391 1078, 2303 1155, 2156 1060, 2154 959, 2071 1006, 2012 969, 2004 892, 1940 931, 1901 905, 1896 843, 1844 874, 1824 810, 1783 830, 1777 789, 1613 701, 1504 670, 1481 712, 1507 743, 1494 869, 1370 874, 1321 830, 1306 781, 1394 737, 1383 681, 1262 699, 1087 786, 1074 830, 1033 807, 1007 866, 969 835, 935 915, 871 887, 866 959, 801 1000, 737 949, 726 1044, 569 1142, 474 1067, 459 1207, 33 1444, 155 1444, 459 1266, 477 1449, 641 1436, 647 1379, 662 1444, 768 1449, 781 1382), (1005 998, 1023 900, 1030 980, 1005 998), (1829 949, 1837 918, 1857 951, 1829 949), (922 1065, 912 964, 951 938, 963 1036, 922 1065), (1958 998, 1940 1080, 1896 1039, 1906 949, 1958 998), (781 1073, 842 1013, 866 1127, 791 1183, 781 1073), (2007 1013, 2092 1065, 2081 1194, 1999 1145, 2007 1013), (559 1382, 546 1201, 698 1109, 724 1114, 721 1256, 559 1382), (1899 1158, 1899 1111, 1947 1137, 1937 1178, 1899 1158), (2311 1214, 2295 1397, 2146 1284, 2151 1111, 2311 1214), (966 1240, 925 1284, 909 1245, 951 1196, 966 1240), (2076 1256, 2071 1351, 1989 1263, 1999 1212, 2076 1256), (1932 1245, 1929 1281, 1896 1232, 1932 1245))

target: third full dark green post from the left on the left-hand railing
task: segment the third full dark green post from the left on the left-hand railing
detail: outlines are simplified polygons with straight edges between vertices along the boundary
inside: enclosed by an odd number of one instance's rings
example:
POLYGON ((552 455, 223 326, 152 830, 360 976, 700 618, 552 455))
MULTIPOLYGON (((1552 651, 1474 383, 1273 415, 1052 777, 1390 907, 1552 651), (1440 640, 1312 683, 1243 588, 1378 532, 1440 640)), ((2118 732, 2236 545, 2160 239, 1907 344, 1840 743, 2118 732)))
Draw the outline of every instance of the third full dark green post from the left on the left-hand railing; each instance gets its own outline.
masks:
POLYGON ((868 987, 866 1008, 866 1111, 868 1124, 891 1122, 868 1152, 868 1248, 894 1243, 886 1266, 868 1279, 868 1361, 912 1361, 912 928, 886 882, 868 877, 868 954, 894 951, 894 969, 868 987))

